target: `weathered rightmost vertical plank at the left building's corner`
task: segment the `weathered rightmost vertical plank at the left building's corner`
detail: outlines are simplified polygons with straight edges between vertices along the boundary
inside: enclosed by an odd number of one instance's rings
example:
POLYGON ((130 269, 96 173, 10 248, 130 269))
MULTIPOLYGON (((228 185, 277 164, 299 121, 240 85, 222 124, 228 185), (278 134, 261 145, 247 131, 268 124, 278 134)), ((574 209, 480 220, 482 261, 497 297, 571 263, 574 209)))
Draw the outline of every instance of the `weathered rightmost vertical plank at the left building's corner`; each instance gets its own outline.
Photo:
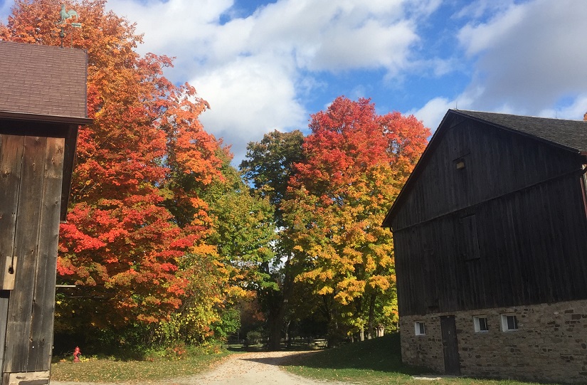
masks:
POLYGON ((63 138, 47 139, 28 371, 51 369, 64 147, 63 138))

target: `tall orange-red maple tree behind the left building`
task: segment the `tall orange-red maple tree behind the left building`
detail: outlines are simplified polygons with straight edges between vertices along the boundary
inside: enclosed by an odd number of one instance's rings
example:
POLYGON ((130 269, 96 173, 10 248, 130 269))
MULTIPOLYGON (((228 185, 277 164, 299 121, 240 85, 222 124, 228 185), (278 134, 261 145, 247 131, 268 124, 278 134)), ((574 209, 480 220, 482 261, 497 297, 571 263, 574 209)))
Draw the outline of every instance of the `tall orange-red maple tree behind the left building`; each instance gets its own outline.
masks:
MULTIPOLYGON (((59 46, 61 4, 16 0, 0 38, 59 46)), ((59 279, 86 289, 60 303, 58 322, 78 327, 154 324, 181 306, 194 272, 186 253, 214 253, 206 243, 213 223, 198 191, 222 178, 217 155, 224 150, 198 120, 207 102, 191 85, 164 78, 171 59, 139 56, 134 25, 105 4, 65 4, 83 24, 66 26, 64 45, 88 51, 94 120, 80 130, 68 223, 60 233, 59 279), (83 317, 69 320, 71 312, 83 317)))

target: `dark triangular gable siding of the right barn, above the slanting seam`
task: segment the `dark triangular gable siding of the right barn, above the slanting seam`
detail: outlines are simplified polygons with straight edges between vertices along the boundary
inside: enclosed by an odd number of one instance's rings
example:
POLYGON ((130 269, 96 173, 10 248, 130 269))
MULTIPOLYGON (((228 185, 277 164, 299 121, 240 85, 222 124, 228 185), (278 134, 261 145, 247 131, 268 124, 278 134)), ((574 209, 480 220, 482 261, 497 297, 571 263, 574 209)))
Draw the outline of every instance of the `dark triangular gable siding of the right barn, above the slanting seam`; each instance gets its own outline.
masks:
POLYGON ((569 157, 564 149, 475 122, 448 128, 442 139, 413 181, 393 219, 393 230, 571 172, 578 158, 569 157), (458 170, 453 156, 462 152, 467 152, 465 168, 458 170), (500 182, 487 184, 487 180, 500 182))

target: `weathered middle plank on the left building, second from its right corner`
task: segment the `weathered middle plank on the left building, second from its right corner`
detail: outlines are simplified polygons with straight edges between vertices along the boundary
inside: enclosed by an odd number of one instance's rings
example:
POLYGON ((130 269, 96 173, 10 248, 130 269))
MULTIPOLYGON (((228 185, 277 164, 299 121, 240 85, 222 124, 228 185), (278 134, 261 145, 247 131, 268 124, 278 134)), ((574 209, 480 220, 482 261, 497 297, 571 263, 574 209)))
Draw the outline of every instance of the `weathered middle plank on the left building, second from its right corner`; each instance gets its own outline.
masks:
POLYGON ((6 327, 5 372, 27 371, 28 340, 31 337, 31 304, 41 231, 41 194, 46 153, 46 137, 25 137, 21 189, 18 197, 15 253, 18 256, 16 284, 11 292, 9 320, 6 327), (25 284, 27 283, 27 284, 25 284))

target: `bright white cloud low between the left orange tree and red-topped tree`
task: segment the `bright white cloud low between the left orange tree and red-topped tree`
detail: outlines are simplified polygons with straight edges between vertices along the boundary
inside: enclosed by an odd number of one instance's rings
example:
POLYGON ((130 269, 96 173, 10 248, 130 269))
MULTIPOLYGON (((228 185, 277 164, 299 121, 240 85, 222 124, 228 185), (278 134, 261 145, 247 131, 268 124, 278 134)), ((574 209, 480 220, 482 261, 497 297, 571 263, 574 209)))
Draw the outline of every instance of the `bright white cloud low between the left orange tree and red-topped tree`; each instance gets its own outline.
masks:
POLYGON ((191 80, 211 110, 201 116, 206 131, 232 144, 240 163, 248 142, 273 130, 307 126, 287 66, 268 67, 263 57, 240 58, 191 80))

